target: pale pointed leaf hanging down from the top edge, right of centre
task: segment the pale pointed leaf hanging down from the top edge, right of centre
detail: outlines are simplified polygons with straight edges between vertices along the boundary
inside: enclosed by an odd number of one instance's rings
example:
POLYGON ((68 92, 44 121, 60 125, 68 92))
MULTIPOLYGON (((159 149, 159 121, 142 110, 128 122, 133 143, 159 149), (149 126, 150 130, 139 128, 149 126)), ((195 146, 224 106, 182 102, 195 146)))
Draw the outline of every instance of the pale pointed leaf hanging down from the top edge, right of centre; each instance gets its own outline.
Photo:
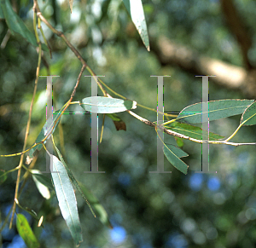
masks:
POLYGON ((142 0, 123 0, 123 3, 125 4, 125 8, 128 10, 129 14, 131 15, 131 20, 136 26, 137 32, 141 36, 146 49, 148 49, 149 51, 150 47, 148 39, 148 29, 145 20, 142 0))

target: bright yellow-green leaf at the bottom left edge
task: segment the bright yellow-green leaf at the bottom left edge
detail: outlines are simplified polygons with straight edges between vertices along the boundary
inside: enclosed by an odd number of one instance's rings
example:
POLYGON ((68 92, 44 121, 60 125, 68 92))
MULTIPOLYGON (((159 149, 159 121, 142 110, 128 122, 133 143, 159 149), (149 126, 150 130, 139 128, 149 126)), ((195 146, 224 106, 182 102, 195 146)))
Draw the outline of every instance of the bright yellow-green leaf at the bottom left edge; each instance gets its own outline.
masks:
POLYGON ((40 247, 38 239, 35 234, 32 232, 32 228, 26 220, 26 217, 22 214, 17 214, 16 226, 20 237, 24 240, 28 248, 37 248, 40 247))

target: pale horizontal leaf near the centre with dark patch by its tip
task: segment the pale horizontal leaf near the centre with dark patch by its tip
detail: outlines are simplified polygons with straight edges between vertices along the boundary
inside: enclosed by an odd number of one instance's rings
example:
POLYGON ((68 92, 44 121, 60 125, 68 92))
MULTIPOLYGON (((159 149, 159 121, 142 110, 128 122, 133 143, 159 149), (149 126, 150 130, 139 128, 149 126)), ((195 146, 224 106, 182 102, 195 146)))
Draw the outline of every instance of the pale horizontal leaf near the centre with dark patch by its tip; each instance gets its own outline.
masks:
POLYGON ((136 101, 103 96, 86 97, 79 104, 86 111, 96 113, 124 112, 137 107, 136 101))

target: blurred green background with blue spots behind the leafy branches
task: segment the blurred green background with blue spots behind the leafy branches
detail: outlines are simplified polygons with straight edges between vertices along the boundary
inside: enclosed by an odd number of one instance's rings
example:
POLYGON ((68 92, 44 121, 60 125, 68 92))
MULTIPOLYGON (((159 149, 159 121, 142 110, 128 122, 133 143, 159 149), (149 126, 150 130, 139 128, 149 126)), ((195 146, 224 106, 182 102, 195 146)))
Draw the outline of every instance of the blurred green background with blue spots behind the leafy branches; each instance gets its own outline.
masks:
MULTIPOLYGON (((32 29, 32 1, 13 1, 20 17, 32 29)), ((138 103, 156 109, 157 80, 165 78, 165 111, 180 112, 201 101, 201 78, 209 80, 209 99, 254 99, 256 36, 254 0, 144 0, 151 51, 143 46, 122 1, 74 1, 70 14, 68 1, 38 1, 44 16, 65 33, 84 59, 113 90, 138 103), (204 60, 204 62, 202 62, 204 60), (215 63, 218 63, 216 66, 215 63), (222 67, 224 66, 224 67, 222 67), (241 78, 239 78, 241 76, 241 78)), ((53 58, 44 52, 54 78, 54 104, 60 109, 69 99, 81 64, 67 45, 42 23, 53 58)), ((38 54, 19 35, 3 44, 8 27, 0 22, 0 153, 22 150, 26 121, 35 80, 38 54)), ((47 75, 43 63, 40 75, 47 75)), ((84 72, 89 75, 89 72, 84 72)), ((46 79, 40 78, 32 112, 28 139, 31 146, 45 122, 46 79)), ((100 89, 99 89, 100 92, 100 89)), ((101 95, 101 93, 99 93, 101 95)), ((74 101, 90 96, 90 78, 82 78, 74 101)), ((114 96, 114 95, 113 95, 114 96)), ((69 111, 79 112, 79 106, 69 111)), ((142 107, 134 111, 151 121, 156 113, 142 107)), ((94 218, 77 193, 84 242, 80 247, 246 247, 256 245, 256 159, 254 146, 210 145, 211 174, 201 170, 201 145, 183 141, 189 157, 188 175, 165 160, 172 174, 149 174, 156 170, 156 133, 126 112, 119 116, 126 131, 115 130, 106 118, 99 144, 99 170, 105 174, 85 174, 90 170, 90 115, 63 115, 55 130, 57 147, 74 176, 96 195, 108 212, 113 229, 94 218)), ((210 131, 228 137, 241 116, 211 122, 210 131)), ((102 115, 99 115, 99 130, 102 115)), ((255 126, 242 127, 232 139, 255 142, 255 126)), ((172 136, 165 141, 175 144, 172 136)), ((0 158, 0 169, 11 170, 20 157, 0 158)), ((38 155, 36 169, 45 170, 45 154, 38 155)), ((24 171, 22 171, 23 175, 24 171)), ((1 223, 15 195, 16 172, 0 186, 1 223)), ((55 194, 44 199, 30 179, 20 205, 44 214, 44 228, 26 215, 42 247, 74 247, 55 194)), ((1 224, 1 225, 2 225, 1 224)), ((14 227, 1 234, 3 247, 26 247, 14 227)))

